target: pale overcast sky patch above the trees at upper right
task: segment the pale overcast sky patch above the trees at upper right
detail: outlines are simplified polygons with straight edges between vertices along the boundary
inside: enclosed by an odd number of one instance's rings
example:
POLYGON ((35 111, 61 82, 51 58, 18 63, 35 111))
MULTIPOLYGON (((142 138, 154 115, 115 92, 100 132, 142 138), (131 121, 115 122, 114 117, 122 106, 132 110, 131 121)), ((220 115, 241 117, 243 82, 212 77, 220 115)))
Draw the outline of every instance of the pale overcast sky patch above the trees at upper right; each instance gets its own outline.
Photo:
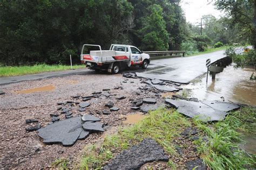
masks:
POLYGON ((200 22, 203 15, 212 14, 216 18, 223 15, 220 11, 214 9, 211 0, 183 0, 181 1, 181 8, 185 12, 186 21, 190 23, 200 22))

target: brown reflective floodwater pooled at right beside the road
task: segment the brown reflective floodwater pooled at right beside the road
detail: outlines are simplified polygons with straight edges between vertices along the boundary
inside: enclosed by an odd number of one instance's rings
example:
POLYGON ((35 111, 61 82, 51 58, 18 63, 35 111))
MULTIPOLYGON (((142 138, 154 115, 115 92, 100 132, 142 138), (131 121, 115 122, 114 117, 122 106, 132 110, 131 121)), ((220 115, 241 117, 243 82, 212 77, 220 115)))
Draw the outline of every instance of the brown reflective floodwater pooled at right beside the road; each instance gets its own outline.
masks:
POLYGON ((216 74, 215 80, 208 76, 207 84, 204 74, 183 88, 190 90, 191 97, 199 100, 224 100, 256 106, 256 80, 250 80, 253 71, 253 67, 235 69, 230 65, 216 74))

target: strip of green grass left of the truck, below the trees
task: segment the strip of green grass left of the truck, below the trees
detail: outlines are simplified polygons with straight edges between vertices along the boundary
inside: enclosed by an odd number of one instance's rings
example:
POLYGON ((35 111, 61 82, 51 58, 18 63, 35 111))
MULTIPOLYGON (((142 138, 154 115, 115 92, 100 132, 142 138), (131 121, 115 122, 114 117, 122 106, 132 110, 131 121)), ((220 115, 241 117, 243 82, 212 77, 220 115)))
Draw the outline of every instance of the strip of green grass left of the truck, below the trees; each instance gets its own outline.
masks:
MULTIPOLYGON (((84 68, 84 65, 73 65, 73 69, 84 68)), ((33 66, 1 66, 0 77, 21 76, 24 74, 35 74, 50 71, 70 70, 69 65, 47 65, 37 64, 33 66)))

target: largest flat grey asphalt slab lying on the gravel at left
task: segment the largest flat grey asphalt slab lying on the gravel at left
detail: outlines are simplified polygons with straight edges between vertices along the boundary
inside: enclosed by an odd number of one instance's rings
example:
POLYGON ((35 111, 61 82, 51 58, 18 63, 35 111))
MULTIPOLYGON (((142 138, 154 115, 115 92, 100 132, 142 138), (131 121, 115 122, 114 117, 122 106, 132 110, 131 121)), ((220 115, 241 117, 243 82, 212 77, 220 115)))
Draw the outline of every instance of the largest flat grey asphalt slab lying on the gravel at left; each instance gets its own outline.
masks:
POLYGON ((45 144, 72 146, 83 131, 81 117, 60 120, 38 130, 38 135, 45 144))

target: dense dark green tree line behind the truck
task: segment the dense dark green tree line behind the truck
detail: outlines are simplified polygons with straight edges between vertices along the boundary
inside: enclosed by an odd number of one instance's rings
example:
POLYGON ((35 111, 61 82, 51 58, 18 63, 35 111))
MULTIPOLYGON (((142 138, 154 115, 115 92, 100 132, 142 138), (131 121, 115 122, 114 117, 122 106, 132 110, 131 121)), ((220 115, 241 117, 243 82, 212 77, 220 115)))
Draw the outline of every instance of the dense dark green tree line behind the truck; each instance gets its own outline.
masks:
POLYGON ((0 63, 66 63, 83 44, 180 50, 180 0, 1 0, 0 63))

